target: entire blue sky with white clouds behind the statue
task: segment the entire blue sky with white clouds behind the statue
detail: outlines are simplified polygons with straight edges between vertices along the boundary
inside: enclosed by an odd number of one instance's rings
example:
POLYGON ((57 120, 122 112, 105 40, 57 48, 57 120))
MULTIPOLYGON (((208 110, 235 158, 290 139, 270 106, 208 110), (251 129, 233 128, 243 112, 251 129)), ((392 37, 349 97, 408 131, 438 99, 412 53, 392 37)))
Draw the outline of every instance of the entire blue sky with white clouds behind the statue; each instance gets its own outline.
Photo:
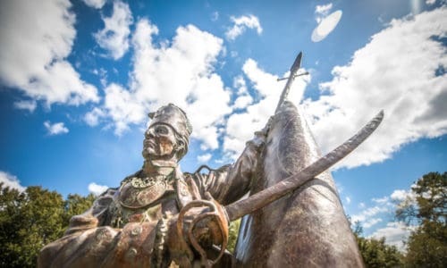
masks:
POLYGON ((399 244, 395 204, 447 167, 447 8, 396 1, 4 1, 0 180, 63 195, 117 186, 142 164, 147 113, 172 102, 194 130, 182 170, 231 163, 260 130, 299 51, 290 99, 329 152, 347 214, 399 244))

